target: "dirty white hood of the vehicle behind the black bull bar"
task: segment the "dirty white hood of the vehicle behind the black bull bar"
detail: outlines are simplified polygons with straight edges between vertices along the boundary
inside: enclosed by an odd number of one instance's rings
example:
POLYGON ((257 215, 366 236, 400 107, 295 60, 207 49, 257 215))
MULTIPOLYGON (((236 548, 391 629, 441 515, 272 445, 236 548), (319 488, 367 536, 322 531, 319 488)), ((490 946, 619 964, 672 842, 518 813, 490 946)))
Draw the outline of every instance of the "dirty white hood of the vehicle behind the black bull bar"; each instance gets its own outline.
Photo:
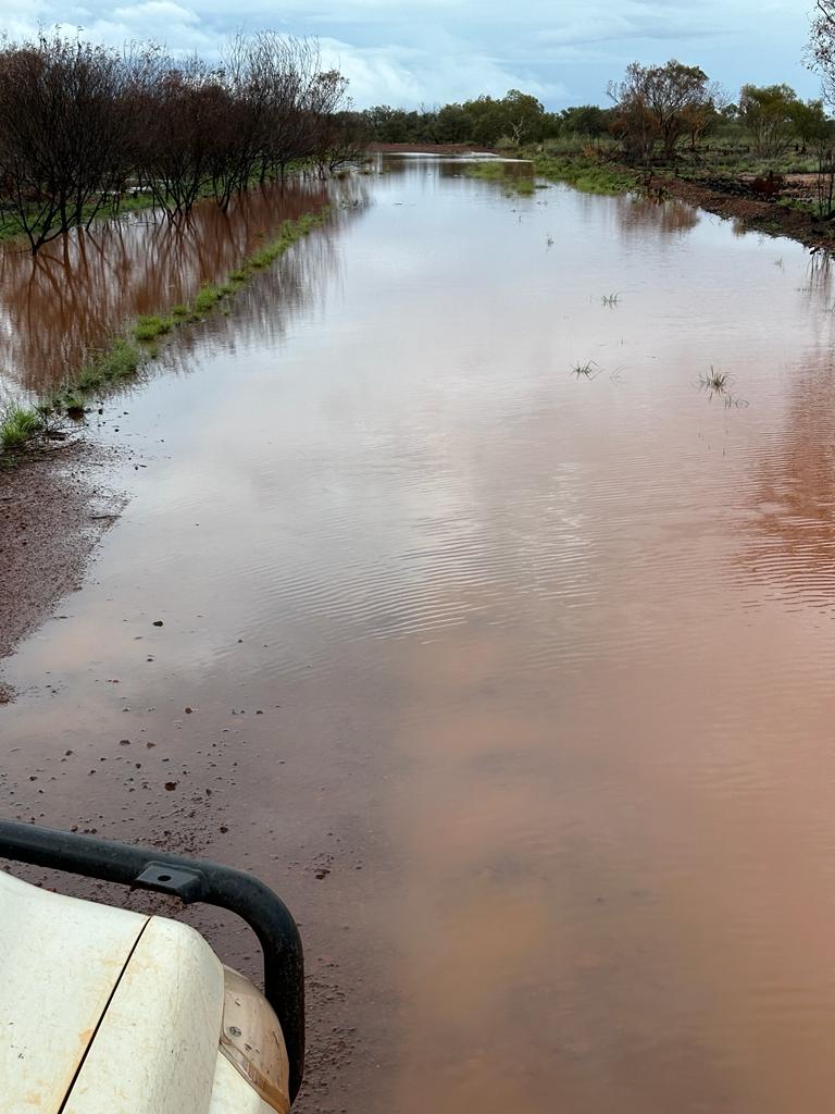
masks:
POLYGON ((220 961, 188 926, 0 872, 3 1114, 218 1110, 223 1000, 220 961))

